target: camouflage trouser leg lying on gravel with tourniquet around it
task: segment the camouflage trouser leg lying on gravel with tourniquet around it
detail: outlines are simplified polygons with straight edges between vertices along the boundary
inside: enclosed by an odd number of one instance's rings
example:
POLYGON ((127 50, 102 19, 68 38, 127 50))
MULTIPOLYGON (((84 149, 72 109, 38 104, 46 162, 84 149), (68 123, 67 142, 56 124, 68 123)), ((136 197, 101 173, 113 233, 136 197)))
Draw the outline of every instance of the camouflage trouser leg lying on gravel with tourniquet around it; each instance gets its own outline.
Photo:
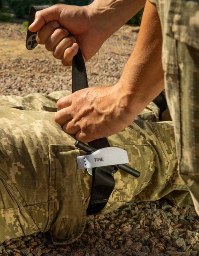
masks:
MULTIPOLYGON (((84 230, 92 177, 77 168, 76 157, 85 152, 53 120, 57 100, 68 93, 0 96, 1 242, 49 230, 54 244, 66 244, 84 230)), ((108 141, 128 152, 141 175, 118 170, 103 213, 132 200, 192 204, 177 172, 171 121, 135 120, 108 141)))

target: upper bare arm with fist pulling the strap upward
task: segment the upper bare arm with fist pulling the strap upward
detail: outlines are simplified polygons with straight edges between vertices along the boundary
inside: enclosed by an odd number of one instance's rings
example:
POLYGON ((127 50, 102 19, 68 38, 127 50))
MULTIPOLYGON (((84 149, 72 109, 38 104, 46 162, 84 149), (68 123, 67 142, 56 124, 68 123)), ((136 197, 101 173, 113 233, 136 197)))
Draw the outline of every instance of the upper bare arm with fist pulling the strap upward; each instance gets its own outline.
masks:
POLYGON ((145 0, 95 0, 83 7, 57 4, 37 12, 29 29, 39 31, 37 42, 68 66, 79 46, 88 61, 144 5, 145 0), (69 32, 74 38, 68 38, 69 32))

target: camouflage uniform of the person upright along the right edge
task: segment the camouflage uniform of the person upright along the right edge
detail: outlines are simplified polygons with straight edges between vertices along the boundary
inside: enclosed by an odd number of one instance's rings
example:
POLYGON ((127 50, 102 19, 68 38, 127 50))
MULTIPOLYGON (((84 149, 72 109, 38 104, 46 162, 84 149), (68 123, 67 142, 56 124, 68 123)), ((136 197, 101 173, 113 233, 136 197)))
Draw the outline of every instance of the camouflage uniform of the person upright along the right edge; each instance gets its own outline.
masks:
POLYGON ((179 174, 199 214, 199 0, 150 0, 162 26, 165 93, 179 174))

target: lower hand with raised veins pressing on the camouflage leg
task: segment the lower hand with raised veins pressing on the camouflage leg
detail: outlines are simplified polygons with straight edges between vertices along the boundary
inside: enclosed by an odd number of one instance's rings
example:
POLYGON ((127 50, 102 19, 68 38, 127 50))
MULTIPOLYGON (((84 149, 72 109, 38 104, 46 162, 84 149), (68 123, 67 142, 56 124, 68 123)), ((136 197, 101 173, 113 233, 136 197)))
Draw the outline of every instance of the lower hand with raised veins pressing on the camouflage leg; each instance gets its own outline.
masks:
POLYGON ((116 134, 134 121, 137 113, 130 111, 130 98, 117 85, 82 89, 58 100, 54 120, 87 143, 116 134))

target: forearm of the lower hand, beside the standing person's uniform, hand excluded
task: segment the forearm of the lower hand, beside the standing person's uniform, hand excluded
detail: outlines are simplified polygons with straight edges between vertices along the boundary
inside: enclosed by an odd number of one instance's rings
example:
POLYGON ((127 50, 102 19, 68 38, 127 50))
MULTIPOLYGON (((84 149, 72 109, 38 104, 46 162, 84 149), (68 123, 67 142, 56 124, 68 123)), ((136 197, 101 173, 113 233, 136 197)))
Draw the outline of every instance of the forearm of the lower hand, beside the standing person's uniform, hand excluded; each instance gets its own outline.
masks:
POLYGON ((156 7, 147 2, 136 47, 119 80, 128 105, 142 111, 164 89, 162 31, 156 7))

